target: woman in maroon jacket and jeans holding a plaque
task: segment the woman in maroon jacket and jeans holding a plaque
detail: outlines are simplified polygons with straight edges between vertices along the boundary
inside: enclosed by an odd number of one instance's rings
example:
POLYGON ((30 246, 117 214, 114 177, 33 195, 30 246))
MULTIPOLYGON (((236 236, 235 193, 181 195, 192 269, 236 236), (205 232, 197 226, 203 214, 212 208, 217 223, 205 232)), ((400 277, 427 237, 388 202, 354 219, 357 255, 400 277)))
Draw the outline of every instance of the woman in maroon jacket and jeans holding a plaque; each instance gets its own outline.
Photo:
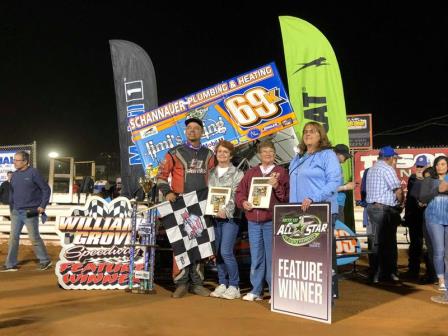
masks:
POLYGON ((246 301, 263 299, 264 281, 271 291, 272 216, 277 203, 288 201, 289 176, 285 168, 276 166, 275 147, 271 141, 258 145, 261 164, 249 169, 236 190, 236 204, 244 209, 250 244, 250 282, 252 290, 243 296, 246 301))

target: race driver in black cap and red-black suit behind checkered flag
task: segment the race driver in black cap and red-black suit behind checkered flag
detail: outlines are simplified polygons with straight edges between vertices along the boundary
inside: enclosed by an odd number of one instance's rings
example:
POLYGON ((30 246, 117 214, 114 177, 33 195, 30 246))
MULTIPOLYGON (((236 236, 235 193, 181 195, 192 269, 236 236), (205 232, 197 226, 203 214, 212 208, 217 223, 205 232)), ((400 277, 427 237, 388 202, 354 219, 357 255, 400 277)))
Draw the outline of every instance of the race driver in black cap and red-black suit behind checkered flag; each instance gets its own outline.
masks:
MULTIPOLYGON (((174 202, 179 194, 207 188, 208 173, 214 167, 213 152, 201 145, 204 130, 202 120, 188 118, 185 120, 184 144, 171 148, 160 165, 157 186, 167 201, 174 202), (171 177, 171 184, 168 178, 171 177)), ((182 270, 173 260, 173 279, 176 290, 173 298, 181 298, 190 290, 201 296, 209 296, 210 291, 203 286, 204 276, 201 264, 194 263, 182 270)))

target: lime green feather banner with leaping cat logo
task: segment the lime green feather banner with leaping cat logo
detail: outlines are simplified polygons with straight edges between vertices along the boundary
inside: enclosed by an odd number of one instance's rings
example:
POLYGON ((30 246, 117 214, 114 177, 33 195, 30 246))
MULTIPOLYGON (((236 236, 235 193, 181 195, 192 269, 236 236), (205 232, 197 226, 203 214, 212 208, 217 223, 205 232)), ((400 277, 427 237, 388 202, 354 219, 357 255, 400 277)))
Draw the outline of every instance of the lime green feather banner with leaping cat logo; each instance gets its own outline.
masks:
MULTIPOLYGON (((333 48, 310 23, 291 16, 279 19, 289 98, 299 122, 294 126, 297 137, 301 138, 305 123, 317 121, 324 126, 333 145, 348 146, 344 90, 333 48)), ((345 180, 351 180, 349 162, 343 168, 345 180)))

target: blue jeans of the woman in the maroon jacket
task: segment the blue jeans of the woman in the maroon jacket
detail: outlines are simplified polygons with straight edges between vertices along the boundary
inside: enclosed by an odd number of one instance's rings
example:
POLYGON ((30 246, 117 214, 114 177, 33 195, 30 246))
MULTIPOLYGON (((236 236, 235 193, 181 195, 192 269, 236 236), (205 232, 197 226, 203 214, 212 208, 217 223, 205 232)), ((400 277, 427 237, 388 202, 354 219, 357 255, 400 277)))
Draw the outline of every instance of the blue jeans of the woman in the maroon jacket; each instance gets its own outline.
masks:
POLYGON ((248 221, 250 244, 251 293, 263 296, 264 281, 271 292, 272 280, 272 221, 257 223, 248 221))

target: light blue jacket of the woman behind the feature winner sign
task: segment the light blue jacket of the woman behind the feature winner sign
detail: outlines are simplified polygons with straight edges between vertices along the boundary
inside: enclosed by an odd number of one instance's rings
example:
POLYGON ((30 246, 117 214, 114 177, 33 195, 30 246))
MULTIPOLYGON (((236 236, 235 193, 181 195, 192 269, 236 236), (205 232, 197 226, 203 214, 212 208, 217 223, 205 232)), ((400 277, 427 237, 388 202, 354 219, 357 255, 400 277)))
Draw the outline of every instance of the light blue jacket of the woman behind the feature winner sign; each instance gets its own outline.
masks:
POLYGON ((313 202, 330 202, 331 213, 338 213, 337 194, 342 176, 333 150, 297 155, 289 165, 289 174, 291 203, 301 203, 305 198, 313 202))

